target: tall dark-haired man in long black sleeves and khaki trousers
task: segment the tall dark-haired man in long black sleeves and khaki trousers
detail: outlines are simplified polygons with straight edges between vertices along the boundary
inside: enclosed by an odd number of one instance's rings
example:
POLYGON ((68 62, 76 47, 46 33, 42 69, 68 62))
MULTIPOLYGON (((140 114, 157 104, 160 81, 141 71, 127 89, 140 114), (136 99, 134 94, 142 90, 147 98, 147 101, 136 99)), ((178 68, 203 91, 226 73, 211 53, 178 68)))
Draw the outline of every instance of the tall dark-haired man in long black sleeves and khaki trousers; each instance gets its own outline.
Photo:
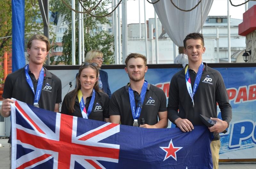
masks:
POLYGON ((213 168, 216 169, 220 151, 219 133, 228 127, 232 118, 228 94, 220 72, 202 62, 202 54, 205 52, 203 35, 190 33, 183 43, 184 53, 188 55, 188 65, 172 77, 167 106, 168 118, 183 132, 192 131, 193 125, 204 125, 199 114, 212 117, 216 121, 209 128, 214 132, 211 151, 213 168), (222 120, 217 118, 217 102, 222 120))

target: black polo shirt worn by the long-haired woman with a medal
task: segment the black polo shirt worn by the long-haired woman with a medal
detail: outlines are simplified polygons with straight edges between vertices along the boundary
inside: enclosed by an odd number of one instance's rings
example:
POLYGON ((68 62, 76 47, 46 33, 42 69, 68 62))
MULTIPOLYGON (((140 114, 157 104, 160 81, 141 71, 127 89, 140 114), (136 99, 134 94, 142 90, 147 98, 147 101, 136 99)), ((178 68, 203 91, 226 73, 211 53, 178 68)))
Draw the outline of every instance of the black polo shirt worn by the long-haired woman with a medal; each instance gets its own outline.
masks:
MULTIPOLYGON (((75 105, 74 105, 75 111, 73 113, 68 111, 68 104, 71 103, 72 95, 73 95, 73 91, 69 92, 64 97, 63 103, 62 103, 62 106, 61 106, 61 113, 68 114, 68 115, 73 115, 73 116, 76 116, 76 117, 83 117, 83 115, 81 113, 80 104, 79 104, 79 100, 78 100, 77 96, 76 96, 75 105)), ((88 107, 89 107, 91 99, 92 99, 92 96, 86 98, 86 103, 85 103, 86 111, 88 111, 88 107)), ((93 103, 92 112, 91 112, 91 114, 89 115, 88 118, 92 119, 92 120, 104 121, 104 118, 109 118, 108 107, 109 107, 109 97, 108 97, 108 95, 103 93, 103 92, 96 92, 95 91, 95 100, 94 100, 94 103, 93 103)))

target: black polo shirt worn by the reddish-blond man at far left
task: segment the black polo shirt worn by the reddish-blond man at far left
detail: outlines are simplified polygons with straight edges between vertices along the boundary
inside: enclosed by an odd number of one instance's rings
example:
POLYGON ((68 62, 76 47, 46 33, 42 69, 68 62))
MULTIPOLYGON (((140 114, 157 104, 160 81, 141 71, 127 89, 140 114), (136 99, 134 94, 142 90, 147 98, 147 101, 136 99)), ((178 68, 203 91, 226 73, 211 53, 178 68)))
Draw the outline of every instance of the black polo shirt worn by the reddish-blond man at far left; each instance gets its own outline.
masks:
MULTIPOLYGON (((36 90, 38 80, 36 80, 34 74, 30 71, 28 74, 36 90)), ((6 77, 3 98, 15 98, 30 105, 34 105, 34 97, 34 93, 26 80, 24 68, 6 77)), ((44 68, 44 82, 38 104, 40 108, 54 111, 55 103, 61 103, 61 81, 57 76, 44 68)))

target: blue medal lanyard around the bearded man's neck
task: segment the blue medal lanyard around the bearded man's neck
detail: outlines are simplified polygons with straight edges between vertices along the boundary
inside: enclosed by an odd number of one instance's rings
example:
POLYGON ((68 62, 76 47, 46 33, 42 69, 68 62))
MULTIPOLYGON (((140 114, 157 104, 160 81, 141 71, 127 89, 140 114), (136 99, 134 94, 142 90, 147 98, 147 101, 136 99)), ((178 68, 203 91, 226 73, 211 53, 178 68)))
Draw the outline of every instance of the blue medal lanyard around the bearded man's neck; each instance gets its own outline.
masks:
MULTIPOLYGON (((143 83, 143 86, 141 88, 141 93, 140 93, 140 101, 141 104, 143 104, 143 101, 145 99, 145 95, 147 92, 147 88, 148 88, 148 82, 145 80, 143 83)), ((137 107, 135 106, 135 99, 134 99, 134 93, 133 90, 131 89, 131 87, 129 86, 129 98, 130 98, 130 104, 131 104, 131 109, 132 109, 132 117, 135 120, 138 120, 140 117, 140 112, 142 107, 137 107), (136 108, 136 111, 135 111, 136 108)))

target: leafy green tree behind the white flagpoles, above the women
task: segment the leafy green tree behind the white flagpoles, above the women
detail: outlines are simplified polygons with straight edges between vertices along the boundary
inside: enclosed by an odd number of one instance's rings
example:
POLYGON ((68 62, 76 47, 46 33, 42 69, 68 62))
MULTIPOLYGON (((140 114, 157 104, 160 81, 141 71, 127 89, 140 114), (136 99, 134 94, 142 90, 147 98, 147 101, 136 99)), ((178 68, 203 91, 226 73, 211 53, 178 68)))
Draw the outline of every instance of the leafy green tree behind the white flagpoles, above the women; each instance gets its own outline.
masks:
MULTIPOLYGON (((66 1, 65 2, 71 6, 71 2, 66 1)), ((94 8, 99 1, 97 0, 90 0, 84 2, 84 7, 86 9, 92 9, 94 8)), ((92 11, 92 13, 97 13, 98 16, 102 16, 108 13, 105 9, 107 8, 107 5, 111 1, 107 0, 104 2, 101 2, 100 5, 95 8, 95 10, 92 11)), ((78 4, 78 1, 76 0, 76 4, 78 4)), ((65 4, 62 3, 62 1, 55 1, 52 0, 50 2, 50 5, 55 11, 58 11, 58 14, 64 17, 64 20, 66 21, 66 24, 68 24, 68 30, 64 33, 64 36, 62 37, 62 56, 59 56, 57 58, 57 62, 55 64, 59 64, 60 62, 65 64, 72 64, 72 26, 71 26, 71 9, 69 9, 65 4)), ((77 9, 77 7, 76 7, 77 9)), ((103 64, 113 64, 113 52, 111 49, 113 49, 113 35, 110 35, 107 31, 101 31, 96 34, 92 35, 92 30, 97 29, 97 24, 109 24, 109 21, 107 17, 102 18, 95 18, 90 16, 89 14, 85 14, 84 16, 84 51, 85 54, 92 50, 100 50, 102 51, 104 55, 104 62, 103 64)), ((76 13, 76 64, 78 64, 78 13, 76 13)))

